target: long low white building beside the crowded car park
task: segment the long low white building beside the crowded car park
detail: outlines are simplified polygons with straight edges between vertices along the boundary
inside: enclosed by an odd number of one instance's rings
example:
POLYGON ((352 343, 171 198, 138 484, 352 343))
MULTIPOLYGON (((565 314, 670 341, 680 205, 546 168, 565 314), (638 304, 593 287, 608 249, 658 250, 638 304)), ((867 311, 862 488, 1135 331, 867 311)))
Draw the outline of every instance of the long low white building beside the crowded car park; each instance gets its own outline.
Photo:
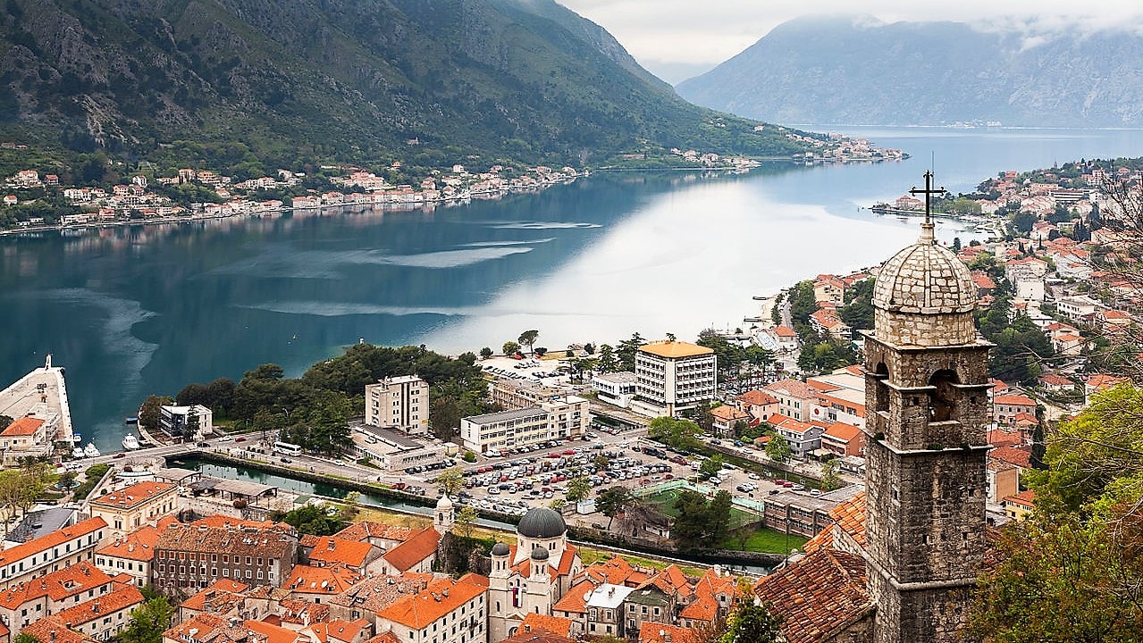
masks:
POLYGON ((567 395, 527 409, 461 419, 464 448, 483 453, 583 435, 591 424, 588 400, 567 395))

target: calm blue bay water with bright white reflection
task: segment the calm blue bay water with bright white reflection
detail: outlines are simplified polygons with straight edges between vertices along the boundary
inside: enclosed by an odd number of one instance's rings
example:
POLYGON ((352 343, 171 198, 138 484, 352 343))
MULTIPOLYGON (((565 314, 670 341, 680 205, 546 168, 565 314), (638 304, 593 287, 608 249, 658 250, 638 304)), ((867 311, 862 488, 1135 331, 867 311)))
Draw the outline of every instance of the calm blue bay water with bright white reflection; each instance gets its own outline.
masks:
MULTIPOLYGON (((0 239, 0 383, 67 368, 73 419, 115 450, 149 393, 290 376, 363 338, 457 353, 522 330, 537 345, 693 338, 757 314, 751 296, 876 264, 914 223, 862 209, 921 182, 970 191, 1006 169, 1143 154, 1135 130, 850 128, 900 163, 749 175, 596 175, 499 201, 0 239)), ((953 222, 938 234, 972 238, 953 222)))

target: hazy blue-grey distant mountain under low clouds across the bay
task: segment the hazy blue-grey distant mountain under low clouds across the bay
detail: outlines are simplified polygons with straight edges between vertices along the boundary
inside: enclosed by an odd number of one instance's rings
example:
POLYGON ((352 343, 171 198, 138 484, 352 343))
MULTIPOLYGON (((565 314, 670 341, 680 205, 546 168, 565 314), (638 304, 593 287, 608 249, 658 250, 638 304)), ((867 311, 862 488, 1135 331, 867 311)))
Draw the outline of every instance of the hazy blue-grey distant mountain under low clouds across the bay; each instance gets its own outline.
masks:
POLYGON ((807 17, 783 23, 680 96, 786 123, 1143 126, 1143 38, 1031 37, 954 22, 807 17))

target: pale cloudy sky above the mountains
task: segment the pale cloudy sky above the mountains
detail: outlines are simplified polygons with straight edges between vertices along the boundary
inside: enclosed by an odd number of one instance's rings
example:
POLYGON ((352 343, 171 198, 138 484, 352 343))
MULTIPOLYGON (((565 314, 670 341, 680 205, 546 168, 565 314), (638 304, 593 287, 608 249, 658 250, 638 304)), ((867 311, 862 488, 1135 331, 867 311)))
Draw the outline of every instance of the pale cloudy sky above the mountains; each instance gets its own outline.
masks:
MULTIPOLYGON (((602 25, 669 82, 726 61, 778 24, 812 14, 865 14, 884 22, 959 21, 1044 33, 1066 26, 1143 24, 1143 2, 1110 0, 557 0, 602 25)), ((1136 27, 1137 29, 1137 27, 1136 27)))

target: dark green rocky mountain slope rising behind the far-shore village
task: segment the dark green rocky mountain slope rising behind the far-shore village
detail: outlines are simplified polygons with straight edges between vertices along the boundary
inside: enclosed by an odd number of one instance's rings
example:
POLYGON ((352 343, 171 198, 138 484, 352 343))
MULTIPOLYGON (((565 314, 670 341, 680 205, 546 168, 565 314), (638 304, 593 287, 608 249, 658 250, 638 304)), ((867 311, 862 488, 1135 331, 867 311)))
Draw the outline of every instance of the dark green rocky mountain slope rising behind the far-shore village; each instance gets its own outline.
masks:
POLYGON ((789 154, 552 0, 0 0, 0 135, 424 166, 789 154), (192 148, 195 148, 192 146, 192 148))

